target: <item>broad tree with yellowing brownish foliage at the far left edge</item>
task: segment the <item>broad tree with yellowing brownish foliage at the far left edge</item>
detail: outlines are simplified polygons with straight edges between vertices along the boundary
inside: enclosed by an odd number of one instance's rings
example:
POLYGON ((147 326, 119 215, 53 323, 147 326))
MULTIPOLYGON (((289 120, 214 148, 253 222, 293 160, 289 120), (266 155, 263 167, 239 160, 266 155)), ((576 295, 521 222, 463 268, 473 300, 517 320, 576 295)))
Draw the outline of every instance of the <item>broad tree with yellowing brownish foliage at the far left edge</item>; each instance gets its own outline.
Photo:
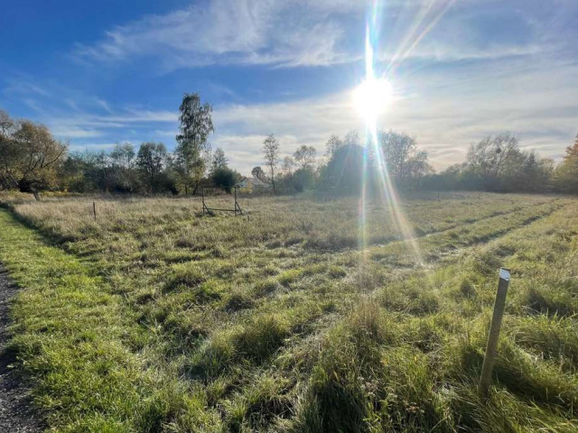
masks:
POLYGON ((0 180, 5 188, 40 199, 40 191, 57 186, 57 169, 67 147, 43 124, 14 120, 0 111, 0 180))

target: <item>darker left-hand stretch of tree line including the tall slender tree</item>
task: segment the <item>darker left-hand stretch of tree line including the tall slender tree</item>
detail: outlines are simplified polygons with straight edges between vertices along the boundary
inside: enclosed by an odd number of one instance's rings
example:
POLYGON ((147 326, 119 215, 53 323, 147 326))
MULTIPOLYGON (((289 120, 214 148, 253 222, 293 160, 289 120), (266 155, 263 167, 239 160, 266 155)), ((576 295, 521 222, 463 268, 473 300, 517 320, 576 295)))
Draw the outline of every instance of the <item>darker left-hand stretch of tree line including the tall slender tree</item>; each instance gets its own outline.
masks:
POLYGON ((210 149, 212 107, 185 94, 174 152, 163 143, 118 143, 111 152, 68 152, 42 124, 0 110, 0 189, 39 198, 44 190, 194 194, 201 183, 229 189, 240 174, 222 149, 210 149))

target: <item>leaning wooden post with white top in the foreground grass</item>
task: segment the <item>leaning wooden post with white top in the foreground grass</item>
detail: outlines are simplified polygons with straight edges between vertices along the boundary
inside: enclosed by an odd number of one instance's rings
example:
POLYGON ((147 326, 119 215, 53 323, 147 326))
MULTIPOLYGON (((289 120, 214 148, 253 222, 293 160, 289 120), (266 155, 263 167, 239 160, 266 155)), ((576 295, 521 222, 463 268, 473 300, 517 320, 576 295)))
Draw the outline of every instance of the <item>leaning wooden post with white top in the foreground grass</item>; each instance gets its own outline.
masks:
POLYGON ((499 330, 504 317, 506 308, 506 296, 508 295, 509 269, 499 268, 498 291, 496 292, 496 301, 494 303, 494 313, 489 326, 488 345, 486 346, 486 355, 484 364, 481 367, 480 391, 487 395, 491 385, 491 372, 496 362, 496 350, 498 349, 499 330))

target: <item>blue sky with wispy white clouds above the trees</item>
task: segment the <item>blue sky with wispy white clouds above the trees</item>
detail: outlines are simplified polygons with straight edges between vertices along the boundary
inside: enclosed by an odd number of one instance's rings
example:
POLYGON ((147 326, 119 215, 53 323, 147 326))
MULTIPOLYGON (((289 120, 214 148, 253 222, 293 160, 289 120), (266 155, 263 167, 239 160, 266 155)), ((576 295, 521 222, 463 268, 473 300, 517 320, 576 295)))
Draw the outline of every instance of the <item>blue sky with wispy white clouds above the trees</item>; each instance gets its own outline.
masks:
POLYGON ((322 156, 331 134, 363 133, 368 22, 394 92, 378 127, 415 136, 436 170, 489 134, 556 160, 573 143, 576 0, 3 0, 0 109, 71 151, 172 150, 182 96, 198 92, 212 148, 248 174, 267 134, 282 156, 322 156))

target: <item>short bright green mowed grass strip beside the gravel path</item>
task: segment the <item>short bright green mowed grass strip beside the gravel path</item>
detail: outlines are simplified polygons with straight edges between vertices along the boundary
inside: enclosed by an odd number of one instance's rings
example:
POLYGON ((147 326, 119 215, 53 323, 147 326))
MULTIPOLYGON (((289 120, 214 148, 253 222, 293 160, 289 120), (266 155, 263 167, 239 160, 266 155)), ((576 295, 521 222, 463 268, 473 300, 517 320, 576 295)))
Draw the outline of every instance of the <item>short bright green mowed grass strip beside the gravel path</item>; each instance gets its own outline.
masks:
POLYGON ((101 277, 4 209, 0 227, 0 260, 24 288, 8 350, 36 384, 52 431, 161 431, 180 411, 183 423, 219 422, 194 390, 145 368, 143 330, 101 277))

